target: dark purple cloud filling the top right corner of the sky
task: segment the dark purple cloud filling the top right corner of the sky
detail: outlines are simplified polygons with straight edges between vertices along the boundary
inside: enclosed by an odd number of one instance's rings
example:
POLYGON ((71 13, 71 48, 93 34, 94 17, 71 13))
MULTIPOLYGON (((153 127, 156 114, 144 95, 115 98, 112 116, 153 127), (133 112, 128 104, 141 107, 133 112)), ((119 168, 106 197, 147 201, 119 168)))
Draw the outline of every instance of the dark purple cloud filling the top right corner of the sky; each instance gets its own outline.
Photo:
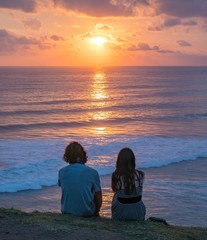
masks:
POLYGON ((207 17, 206 0, 155 0, 157 13, 174 17, 207 17))

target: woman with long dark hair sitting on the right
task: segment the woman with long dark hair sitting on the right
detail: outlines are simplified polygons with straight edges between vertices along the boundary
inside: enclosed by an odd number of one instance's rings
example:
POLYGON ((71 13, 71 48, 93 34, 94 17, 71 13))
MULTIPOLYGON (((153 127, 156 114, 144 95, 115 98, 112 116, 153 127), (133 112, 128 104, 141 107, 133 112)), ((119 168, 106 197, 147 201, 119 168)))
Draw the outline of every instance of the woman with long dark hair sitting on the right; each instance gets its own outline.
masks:
POLYGON ((135 156, 130 148, 123 148, 112 174, 112 218, 116 220, 145 220, 142 202, 144 172, 135 169, 135 156))

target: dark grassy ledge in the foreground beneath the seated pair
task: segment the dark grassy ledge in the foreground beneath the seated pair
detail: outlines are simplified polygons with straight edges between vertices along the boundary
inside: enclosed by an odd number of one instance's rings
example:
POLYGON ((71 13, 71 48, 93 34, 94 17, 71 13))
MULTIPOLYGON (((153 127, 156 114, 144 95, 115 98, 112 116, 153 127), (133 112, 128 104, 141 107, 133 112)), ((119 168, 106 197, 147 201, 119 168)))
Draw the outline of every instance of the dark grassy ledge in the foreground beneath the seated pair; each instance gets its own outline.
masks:
POLYGON ((1 240, 207 240, 207 228, 0 208, 1 240))

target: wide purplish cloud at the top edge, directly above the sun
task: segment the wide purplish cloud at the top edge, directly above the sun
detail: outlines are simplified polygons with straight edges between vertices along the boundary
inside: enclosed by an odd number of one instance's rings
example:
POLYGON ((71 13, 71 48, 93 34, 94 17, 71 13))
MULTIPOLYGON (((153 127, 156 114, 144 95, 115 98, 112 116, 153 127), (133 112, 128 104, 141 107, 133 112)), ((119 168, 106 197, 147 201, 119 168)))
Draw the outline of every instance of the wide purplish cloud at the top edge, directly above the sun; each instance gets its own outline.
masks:
POLYGON ((132 16, 148 0, 53 0, 56 6, 94 17, 132 16))

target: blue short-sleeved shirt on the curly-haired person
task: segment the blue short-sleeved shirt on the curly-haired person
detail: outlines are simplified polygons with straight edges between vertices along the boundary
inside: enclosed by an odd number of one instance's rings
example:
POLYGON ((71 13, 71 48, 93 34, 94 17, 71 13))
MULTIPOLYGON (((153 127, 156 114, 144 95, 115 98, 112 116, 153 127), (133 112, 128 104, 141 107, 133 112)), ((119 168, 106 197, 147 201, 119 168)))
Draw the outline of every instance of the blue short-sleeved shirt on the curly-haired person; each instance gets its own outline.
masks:
POLYGON ((92 216, 95 213, 95 192, 101 191, 98 172, 85 164, 73 163, 59 171, 61 186, 61 211, 77 216, 92 216))

